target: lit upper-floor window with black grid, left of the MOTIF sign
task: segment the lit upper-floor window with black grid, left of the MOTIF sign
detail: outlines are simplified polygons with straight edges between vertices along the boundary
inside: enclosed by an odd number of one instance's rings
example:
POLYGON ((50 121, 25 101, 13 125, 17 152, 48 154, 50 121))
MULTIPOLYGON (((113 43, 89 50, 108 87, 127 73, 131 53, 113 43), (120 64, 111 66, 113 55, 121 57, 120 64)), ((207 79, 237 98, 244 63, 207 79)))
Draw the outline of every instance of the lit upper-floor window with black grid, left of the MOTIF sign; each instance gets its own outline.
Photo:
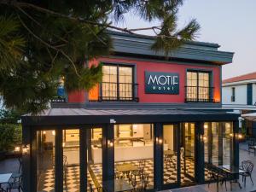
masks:
POLYGON ((101 86, 102 101, 134 101, 133 67, 104 65, 101 86))

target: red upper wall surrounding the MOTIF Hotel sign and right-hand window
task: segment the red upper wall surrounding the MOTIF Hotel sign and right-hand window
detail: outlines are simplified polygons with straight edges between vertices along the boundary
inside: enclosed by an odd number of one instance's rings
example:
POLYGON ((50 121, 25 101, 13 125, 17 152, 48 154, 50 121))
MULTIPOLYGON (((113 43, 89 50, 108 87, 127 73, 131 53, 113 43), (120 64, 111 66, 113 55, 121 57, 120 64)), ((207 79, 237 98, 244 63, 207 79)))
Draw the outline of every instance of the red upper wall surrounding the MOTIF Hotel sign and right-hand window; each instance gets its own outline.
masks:
MULTIPOLYGON (((185 84, 187 69, 204 69, 212 71, 214 99, 220 102, 220 68, 218 66, 195 66, 173 63, 164 63, 156 61, 137 61, 130 59, 101 58, 98 61, 108 61, 113 63, 131 63, 137 66, 137 84, 139 102, 178 102, 185 101, 185 84), (179 73, 179 95, 170 94, 145 94, 145 71, 148 72, 166 72, 179 73)), ((93 61, 96 64, 96 61, 93 61)))

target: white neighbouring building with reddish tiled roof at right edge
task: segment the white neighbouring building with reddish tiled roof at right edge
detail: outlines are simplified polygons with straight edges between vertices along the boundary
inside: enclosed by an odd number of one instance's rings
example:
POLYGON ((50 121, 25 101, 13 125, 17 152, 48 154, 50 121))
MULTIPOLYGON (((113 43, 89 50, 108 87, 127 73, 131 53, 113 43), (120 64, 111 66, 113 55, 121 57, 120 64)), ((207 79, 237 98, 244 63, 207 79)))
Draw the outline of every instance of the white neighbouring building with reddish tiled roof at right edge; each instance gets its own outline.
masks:
POLYGON ((247 113, 256 112, 256 72, 223 81, 223 108, 233 109, 245 119, 247 135, 256 137, 256 122, 247 113))

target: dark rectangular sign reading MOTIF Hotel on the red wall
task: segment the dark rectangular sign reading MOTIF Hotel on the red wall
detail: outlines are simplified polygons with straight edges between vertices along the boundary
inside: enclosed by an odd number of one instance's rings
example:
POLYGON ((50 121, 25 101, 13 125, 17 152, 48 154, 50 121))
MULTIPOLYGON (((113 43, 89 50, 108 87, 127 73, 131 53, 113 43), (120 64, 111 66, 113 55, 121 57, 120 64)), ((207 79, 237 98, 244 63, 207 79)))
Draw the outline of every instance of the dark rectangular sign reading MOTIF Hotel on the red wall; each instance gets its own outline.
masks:
POLYGON ((151 94, 179 94, 179 74, 145 72, 145 92, 151 94))

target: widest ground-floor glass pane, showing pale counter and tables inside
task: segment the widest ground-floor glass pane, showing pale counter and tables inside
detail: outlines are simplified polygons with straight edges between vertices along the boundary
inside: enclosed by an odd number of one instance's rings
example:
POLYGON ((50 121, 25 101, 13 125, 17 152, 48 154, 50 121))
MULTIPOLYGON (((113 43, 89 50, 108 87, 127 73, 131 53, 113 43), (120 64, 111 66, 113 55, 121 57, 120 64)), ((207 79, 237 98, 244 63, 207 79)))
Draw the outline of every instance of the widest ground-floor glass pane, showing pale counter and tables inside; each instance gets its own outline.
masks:
POLYGON ((154 189, 153 125, 114 126, 115 179, 134 189, 154 189))

